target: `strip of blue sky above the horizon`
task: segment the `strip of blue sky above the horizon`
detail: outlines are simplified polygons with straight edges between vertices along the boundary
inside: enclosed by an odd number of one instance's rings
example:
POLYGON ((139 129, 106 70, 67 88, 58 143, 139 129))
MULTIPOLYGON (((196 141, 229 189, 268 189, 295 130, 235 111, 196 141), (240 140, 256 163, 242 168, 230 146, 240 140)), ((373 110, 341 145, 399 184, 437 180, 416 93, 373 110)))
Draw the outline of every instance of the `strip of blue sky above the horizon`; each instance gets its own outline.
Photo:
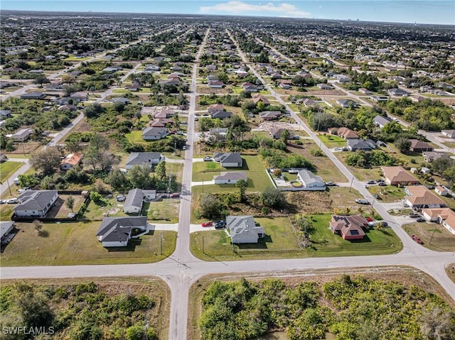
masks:
POLYGON ((455 0, 0 0, 0 9, 276 16, 455 25, 455 0))

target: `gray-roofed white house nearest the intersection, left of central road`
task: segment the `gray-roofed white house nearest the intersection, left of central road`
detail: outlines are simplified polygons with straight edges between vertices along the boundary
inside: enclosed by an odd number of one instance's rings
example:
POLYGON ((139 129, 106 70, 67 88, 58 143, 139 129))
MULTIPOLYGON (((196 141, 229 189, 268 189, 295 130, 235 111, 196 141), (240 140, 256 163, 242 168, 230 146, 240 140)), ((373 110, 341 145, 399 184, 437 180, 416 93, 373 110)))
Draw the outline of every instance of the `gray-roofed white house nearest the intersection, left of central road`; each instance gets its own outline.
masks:
POLYGON ((103 247, 126 247, 133 229, 147 230, 147 216, 105 217, 97 231, 97 239, 103 247))

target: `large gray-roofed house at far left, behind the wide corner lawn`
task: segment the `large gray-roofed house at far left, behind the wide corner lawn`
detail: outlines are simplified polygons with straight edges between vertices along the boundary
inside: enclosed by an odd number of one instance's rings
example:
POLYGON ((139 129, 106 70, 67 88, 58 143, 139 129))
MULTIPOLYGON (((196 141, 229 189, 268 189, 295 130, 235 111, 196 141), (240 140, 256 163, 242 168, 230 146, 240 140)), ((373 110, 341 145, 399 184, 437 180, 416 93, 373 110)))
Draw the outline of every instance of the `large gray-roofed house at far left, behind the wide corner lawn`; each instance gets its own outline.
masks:
POLYGON ((17 198, 13 211, 16 216, 44 217, 57 198, 57 190, 27 190, 17 198))

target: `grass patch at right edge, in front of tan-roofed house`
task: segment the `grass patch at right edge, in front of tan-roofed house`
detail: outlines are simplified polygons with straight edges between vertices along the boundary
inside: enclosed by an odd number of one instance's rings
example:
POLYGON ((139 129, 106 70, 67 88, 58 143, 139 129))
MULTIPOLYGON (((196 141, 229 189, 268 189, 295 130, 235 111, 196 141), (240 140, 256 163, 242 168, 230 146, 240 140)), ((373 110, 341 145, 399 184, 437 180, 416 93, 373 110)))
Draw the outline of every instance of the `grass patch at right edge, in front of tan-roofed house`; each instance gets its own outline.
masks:
POLYGON ((413 224, 405 224, 402 228, 409 235, 419 236, 419 238, 424 241, 422 246, 425 248, 429 248, 432 251, 455 251, 455 236, 450 234, 444 226, 441 226, 441 224, 416 222, 413 224), (430 240, 432 243, 430 243, 430 240))

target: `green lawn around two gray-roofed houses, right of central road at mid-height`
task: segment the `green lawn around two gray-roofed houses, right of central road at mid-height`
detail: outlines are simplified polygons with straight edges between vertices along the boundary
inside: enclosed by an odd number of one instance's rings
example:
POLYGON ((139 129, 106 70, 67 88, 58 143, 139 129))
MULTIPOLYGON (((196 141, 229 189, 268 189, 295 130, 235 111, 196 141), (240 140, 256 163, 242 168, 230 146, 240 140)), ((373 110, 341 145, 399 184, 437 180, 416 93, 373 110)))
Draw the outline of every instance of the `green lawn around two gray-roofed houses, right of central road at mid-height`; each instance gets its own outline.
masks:
MULTIPOLYGON (((272 185, 264 165, 258 155, 242 155, 242 168, 223 168, 217 162, 196 162, 193 163, 193 182, 213 180, 214 175, 220 175, 222 171, 245 171, 248 177, 249 192, 260 192, 272 185)), ((202 188, 201 188, 202 190, 202 188)), ((237 190, 235 185, 204 185, 204 192, 233 191, 237 190), (227 190, 223 190, 227 189, 227 190)))

